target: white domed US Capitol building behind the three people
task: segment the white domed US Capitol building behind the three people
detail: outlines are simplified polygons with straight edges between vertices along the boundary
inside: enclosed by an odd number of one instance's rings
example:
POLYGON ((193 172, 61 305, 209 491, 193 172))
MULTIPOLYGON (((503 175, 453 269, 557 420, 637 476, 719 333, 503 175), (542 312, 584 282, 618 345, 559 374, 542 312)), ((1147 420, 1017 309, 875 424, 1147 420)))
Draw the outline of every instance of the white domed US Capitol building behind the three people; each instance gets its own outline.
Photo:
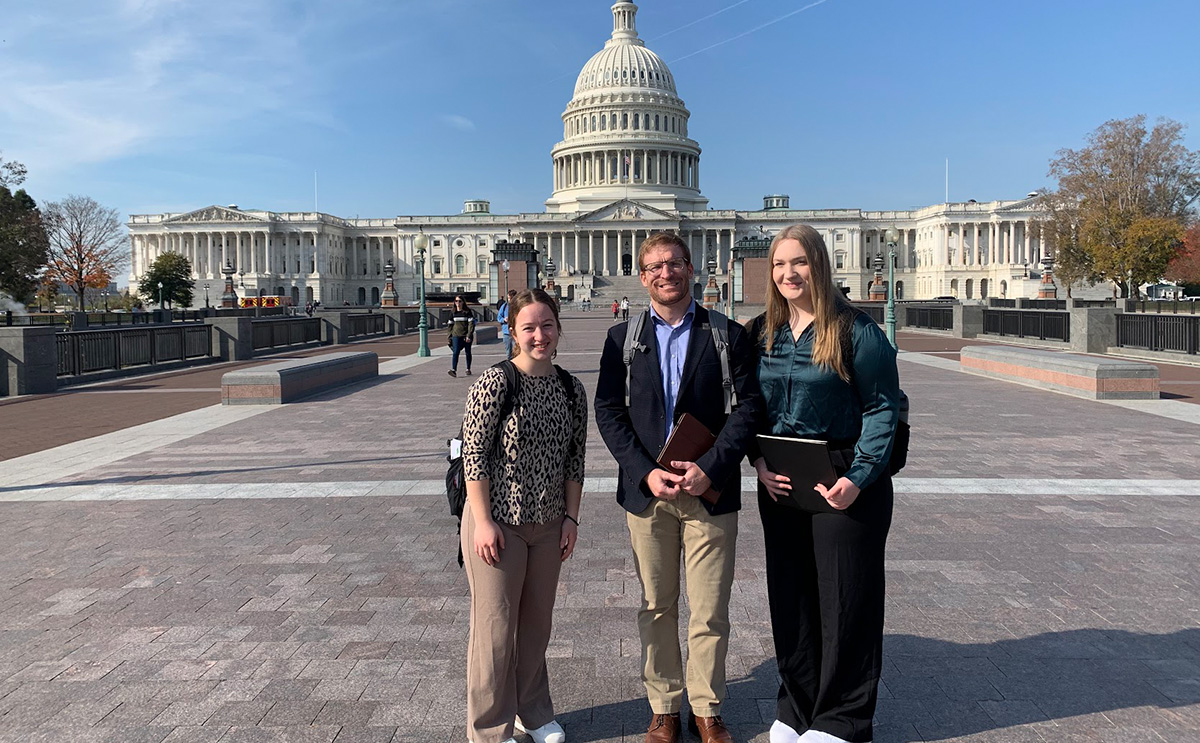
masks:
POLYGON ((528 283, 538 280, 535 265, 546 270, 552 260, 565 298, 608 301, 613 294, 641 295, 637 246, 670 230, 691 247, 697 281, 715 259, 724 293, 761 304, 760 296, 742 296, 734 246, 806 222, 824 235, 834 278, 852 299, 866 298, 889 228, 901 235, 899 299, 1037 295, 1042 244, 1032 228, 1039 214, 1033 194, 907 211, 792 209, 782 194, 763 197, 754 211, 709 208, 701 193, 701 148, 688 134, 689 110, 674 76, 638 38, 636 13, 632 2, 612 6, 612 36, 580 71, 563 112, 563 140, 551 150, 553 190, 545 211, 498 215, 487 200, 470 199, 450 216, 349 220, 216 205, 132 215, 131 286, 157 256, 174 251, 191 260, 197 298, 208 293, 205 284, 220 296, 228 262, 242 295, 262 290, 300 305, 374 305, 390 260, 404 304, 416 299, 414 239, 424 232, 430 290, 479 292, 482 301, 494 301, 509 276, 493 251, 521 242, 538 252, 536 264, 527 266, 528 283))

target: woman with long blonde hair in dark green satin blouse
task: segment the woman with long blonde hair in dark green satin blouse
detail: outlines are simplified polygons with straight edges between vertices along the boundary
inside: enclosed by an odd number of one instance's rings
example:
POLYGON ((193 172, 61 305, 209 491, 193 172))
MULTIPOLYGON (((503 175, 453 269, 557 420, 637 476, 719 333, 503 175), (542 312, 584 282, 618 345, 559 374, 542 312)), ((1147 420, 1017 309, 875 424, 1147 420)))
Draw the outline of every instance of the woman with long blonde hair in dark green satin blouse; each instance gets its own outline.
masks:
POLYGON ((810 513, 785 505, 791 483, 750 453, 782 679, 770 741, 866 743, 882 666, 896 354, 834 286, 817 230, 785 228, 768 263, 767 312, 751 323, 766 408, 760 432, 823 439, 841 454, 836 483, 816 487, 834 513, 810 513))

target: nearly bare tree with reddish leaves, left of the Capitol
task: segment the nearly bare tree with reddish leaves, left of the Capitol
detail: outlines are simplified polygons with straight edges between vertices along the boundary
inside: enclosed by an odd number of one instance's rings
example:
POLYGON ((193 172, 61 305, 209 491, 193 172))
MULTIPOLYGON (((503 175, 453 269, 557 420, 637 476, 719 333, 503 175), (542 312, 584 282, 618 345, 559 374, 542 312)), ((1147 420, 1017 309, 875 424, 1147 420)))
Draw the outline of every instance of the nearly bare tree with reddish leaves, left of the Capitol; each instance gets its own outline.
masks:
POLYGON ((48 204, 44 220, 50 239, 47 275, 73 288, 83 310, 84 292, 107 287, 128 263, 125 228, 115 209, 88 196, 48 204))

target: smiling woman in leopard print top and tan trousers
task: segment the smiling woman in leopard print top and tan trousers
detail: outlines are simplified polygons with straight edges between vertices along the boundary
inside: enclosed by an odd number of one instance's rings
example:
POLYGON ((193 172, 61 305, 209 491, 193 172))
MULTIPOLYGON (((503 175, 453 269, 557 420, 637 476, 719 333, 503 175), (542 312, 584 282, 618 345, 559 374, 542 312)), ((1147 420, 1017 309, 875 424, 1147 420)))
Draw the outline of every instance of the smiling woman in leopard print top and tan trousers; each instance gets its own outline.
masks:
POLYGON ((509 743, 514 730, 563 743, 546 672, 554 595, 578 537, 588 405, 554 368, 558 304, 541 289, 512 300, 520 390, 500 419, 508 381, 490 368, 467 395, 462 552, 470 585, 467 738, 509 743), (574 397, 574 401, 571 400, 574 397))

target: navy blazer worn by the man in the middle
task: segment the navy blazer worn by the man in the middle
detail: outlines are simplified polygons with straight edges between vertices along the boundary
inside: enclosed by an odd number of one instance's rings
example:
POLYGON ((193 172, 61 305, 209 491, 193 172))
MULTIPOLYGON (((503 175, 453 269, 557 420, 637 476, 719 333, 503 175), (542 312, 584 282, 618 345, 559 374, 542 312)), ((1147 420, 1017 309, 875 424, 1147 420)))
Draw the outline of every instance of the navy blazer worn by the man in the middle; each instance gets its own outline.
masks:
MULTIPOLYGON (((650 471, 658 468, 655 459, 666 443, 666 405, 658 338, 653 320, 647 318, 640 338, 647 350, 634 352, 632 394, 630 406, 625 407, 625 361, 622 356, 628 324, 613 325, 605 340, 596 381, 595 413, 600 436, 620 467, 617 502, 625 510, 640 514, 654 498, 644 480, 650 471)), ((720 356, 713 344, 708 310, 697 304, 674 414, 678 418, 691 413, 716 435, 716 444, 696 461, 713 481, 713 487, 721 493, 715 504, 701 499, 714 515, 742 508, 742 457, 754 438, 762 405, 752 343, 746 329, 732 320, 730 371, 738 393, 738 406, 726 417, 720 356)))

